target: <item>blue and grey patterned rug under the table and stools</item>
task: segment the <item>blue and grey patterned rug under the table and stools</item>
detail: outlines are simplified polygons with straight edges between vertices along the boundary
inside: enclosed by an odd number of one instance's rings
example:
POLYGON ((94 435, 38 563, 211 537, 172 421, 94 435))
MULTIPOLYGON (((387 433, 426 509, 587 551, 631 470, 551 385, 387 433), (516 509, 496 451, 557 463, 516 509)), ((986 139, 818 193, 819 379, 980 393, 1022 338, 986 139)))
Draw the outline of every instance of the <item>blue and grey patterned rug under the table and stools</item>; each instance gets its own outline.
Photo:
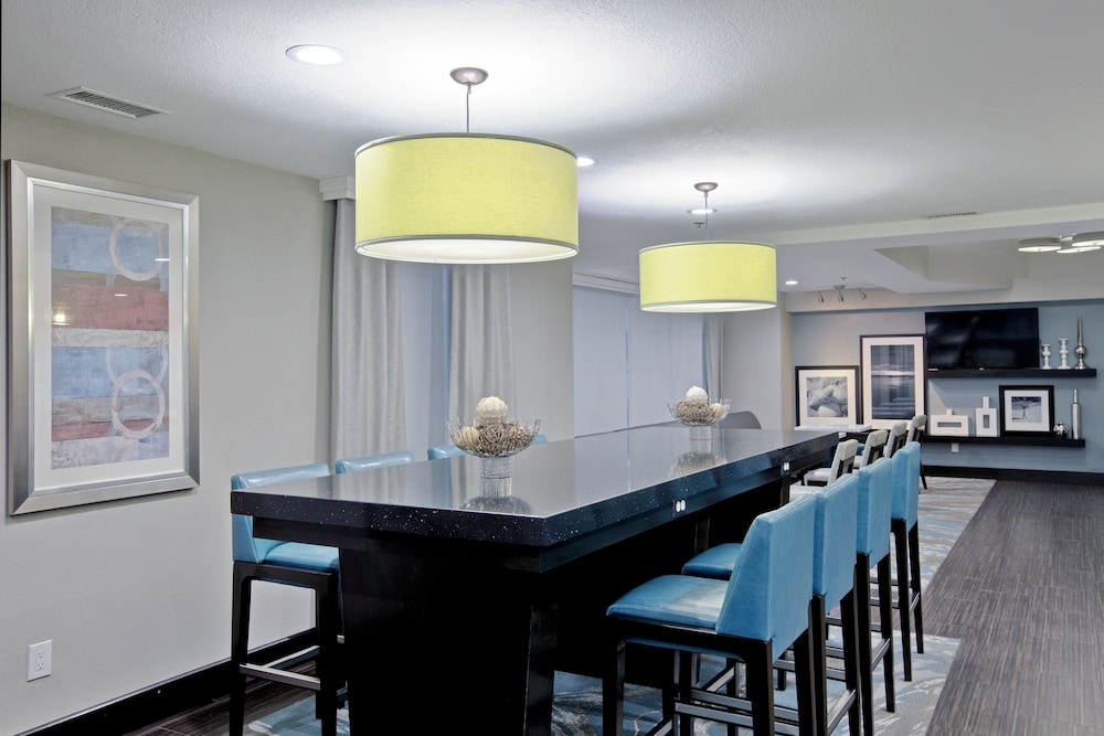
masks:
MULTIPOLYGON (((920 497, 920 548, 923 587, 935 575, 951 546, 969 523, 974 512, 992 488, 991 480, 963 478, 928 478, 927 489, 920 497)), ((885 690, 881 670, 874 678, 874 719, 880 736, 924 736, 927 723, 938 702, 943 681, 958 649, 954 639, 924 637, 924 653, 913 653, 913 680, 904 681, 901 664, 901 636, 894 632, 894 665, 896 712, 885 711, 885 690)), ((793 689, 787 691, 793 692, 793 689)), ((658 721, 658 691, 640 686, 626 687, 626 728, 644 734, 658 721), (629 725, 628 722, 631 722, 629 725)), ((779 694, 779 702, 787 700, 779 694)), ((258 718, 246 726, 247 734, 265 736, 310 736, 318 733, 314 703, 309 697, 258 718)), ((338 734, 348 734, 348 713, 339 712, 338 734)), ((556 673, 552 733, 555 736, 598 736, 602 734, 602 683, 592 678, 556 673)), ((723 734, 720 724, 697 722, 694 734, 723 734)), ((750 734, 742 729, 742 734, 750 734)), ((847 722, 834 736, 848 733, 847 722)))

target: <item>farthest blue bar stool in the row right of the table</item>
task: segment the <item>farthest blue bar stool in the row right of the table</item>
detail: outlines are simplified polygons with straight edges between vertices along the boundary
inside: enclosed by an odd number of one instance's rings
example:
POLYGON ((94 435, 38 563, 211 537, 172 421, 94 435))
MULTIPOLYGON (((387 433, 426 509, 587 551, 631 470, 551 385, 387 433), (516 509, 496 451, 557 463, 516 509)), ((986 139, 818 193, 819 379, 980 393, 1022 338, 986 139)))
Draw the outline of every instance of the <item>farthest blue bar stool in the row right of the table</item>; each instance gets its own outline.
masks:
POLYGON ((893 510, 890 531, 896 558, 896 609, 901 619, 901 659, 904 679, 912 680, 910 630, 916 632, 916 653, 924 653, 924 609, 920 588, 920 442, 907 442, 893 454, 893 510))

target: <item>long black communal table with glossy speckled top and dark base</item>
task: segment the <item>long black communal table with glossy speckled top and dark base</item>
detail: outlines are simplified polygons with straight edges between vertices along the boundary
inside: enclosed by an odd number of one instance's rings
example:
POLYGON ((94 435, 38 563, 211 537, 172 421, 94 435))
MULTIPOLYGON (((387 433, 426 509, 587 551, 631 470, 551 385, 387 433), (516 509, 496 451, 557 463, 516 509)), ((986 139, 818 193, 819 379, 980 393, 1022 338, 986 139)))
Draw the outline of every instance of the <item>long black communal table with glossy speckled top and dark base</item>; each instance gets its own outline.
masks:
POLYGON ((534 445, 507 479, 463 456, 233 491, 231 510, 257 536, 340 547, 354 734, 432 713, 543 735, 554 671, 601 674, 605 607, 740 538, 837 441, 644 427, 534 445))

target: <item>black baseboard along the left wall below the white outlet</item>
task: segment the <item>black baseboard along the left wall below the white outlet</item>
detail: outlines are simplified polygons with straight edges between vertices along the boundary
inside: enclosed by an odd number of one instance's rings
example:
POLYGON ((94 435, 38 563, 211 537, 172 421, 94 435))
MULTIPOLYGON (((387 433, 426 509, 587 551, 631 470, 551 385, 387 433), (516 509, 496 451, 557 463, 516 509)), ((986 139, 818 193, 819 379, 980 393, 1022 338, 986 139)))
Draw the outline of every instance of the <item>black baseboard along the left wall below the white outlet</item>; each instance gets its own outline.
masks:
MULTIPOLYGON (((257 653, 266 658, 266 661, 287 657, 306 649, 312 640, 312 631, 302 631, 262 647, 257 653)), ((232 674, 227 658, 87 711, 25 730, 19 736, 86 736, 137 730, 183 711, 227 698, 232 674)))

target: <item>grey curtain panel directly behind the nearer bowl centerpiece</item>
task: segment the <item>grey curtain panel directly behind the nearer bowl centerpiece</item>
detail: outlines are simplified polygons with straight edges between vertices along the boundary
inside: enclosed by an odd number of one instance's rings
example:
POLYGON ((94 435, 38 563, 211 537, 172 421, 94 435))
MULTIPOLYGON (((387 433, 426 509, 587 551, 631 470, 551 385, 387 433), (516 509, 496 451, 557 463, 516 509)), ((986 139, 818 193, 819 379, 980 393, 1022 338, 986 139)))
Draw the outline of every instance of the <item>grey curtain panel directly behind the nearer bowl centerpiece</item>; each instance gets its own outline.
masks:
POLYGON ((510 274, 505 266, 453 266, 448 330, 448 416, 470 419, 484 396, 514 415, 510 274))

